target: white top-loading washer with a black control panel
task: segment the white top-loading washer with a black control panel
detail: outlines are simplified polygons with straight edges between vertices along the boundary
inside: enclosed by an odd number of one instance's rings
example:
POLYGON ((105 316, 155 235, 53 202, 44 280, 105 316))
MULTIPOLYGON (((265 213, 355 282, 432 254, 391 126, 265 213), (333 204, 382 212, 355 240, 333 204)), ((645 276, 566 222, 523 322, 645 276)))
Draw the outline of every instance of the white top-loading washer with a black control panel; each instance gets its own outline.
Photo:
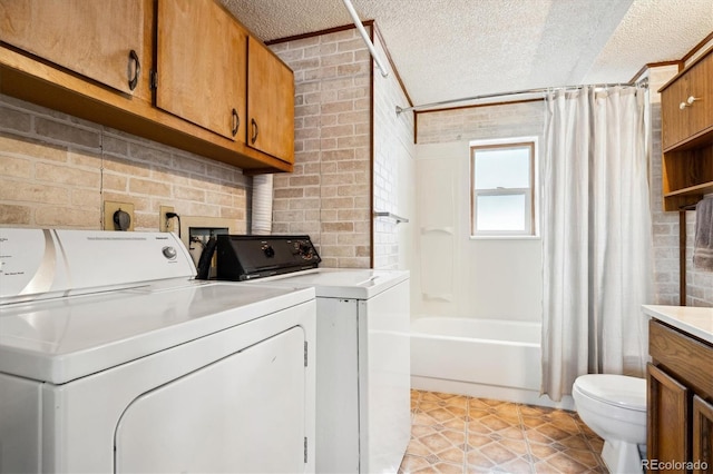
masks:
POLYGON ((307 236, 218 236, 218 278, 316 292, 316 471, 395 473, 411 435, 409 273, 319 261, 307 236))

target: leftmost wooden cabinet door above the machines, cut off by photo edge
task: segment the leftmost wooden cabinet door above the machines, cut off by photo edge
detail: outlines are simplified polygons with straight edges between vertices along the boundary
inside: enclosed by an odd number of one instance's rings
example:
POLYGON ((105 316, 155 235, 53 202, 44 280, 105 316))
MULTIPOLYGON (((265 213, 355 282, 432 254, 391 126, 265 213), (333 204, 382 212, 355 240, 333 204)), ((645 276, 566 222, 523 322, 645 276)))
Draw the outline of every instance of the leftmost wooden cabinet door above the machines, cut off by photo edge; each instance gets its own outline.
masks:
POLYGON ((0 40, 150 100, 152 10, 150 0, 0 0, 0 40))

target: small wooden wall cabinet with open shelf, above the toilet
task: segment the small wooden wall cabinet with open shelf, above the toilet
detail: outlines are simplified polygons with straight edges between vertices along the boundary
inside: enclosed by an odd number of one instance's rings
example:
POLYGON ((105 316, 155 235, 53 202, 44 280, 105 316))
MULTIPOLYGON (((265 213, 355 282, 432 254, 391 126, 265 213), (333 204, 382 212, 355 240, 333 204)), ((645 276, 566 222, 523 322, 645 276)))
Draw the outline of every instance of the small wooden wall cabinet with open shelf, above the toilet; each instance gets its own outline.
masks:
POLYGON ((713 192, 713 50, 660 89, 664 210, 713 192))

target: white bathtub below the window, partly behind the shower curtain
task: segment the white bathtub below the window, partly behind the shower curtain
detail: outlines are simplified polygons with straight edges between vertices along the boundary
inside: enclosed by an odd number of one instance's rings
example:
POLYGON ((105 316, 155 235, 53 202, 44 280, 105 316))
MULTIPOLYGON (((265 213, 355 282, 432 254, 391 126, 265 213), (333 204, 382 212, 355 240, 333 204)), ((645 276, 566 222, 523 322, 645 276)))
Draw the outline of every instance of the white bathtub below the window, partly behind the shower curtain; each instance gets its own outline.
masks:
POLYGON ((411 387, 544 406, 540 323, 426 316, 411 322, 411 387))

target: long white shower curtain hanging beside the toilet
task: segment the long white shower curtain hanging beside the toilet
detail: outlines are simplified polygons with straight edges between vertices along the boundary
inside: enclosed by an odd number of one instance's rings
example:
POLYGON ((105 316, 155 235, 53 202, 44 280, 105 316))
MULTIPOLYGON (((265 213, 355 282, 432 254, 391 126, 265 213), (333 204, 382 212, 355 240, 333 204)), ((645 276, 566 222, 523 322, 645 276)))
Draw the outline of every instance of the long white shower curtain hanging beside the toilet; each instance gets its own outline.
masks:
POLYGON ((643 375, 641 305, 653 294, 646 90, 547 100, 543 196, 543 394, 587 373, 643 375))

